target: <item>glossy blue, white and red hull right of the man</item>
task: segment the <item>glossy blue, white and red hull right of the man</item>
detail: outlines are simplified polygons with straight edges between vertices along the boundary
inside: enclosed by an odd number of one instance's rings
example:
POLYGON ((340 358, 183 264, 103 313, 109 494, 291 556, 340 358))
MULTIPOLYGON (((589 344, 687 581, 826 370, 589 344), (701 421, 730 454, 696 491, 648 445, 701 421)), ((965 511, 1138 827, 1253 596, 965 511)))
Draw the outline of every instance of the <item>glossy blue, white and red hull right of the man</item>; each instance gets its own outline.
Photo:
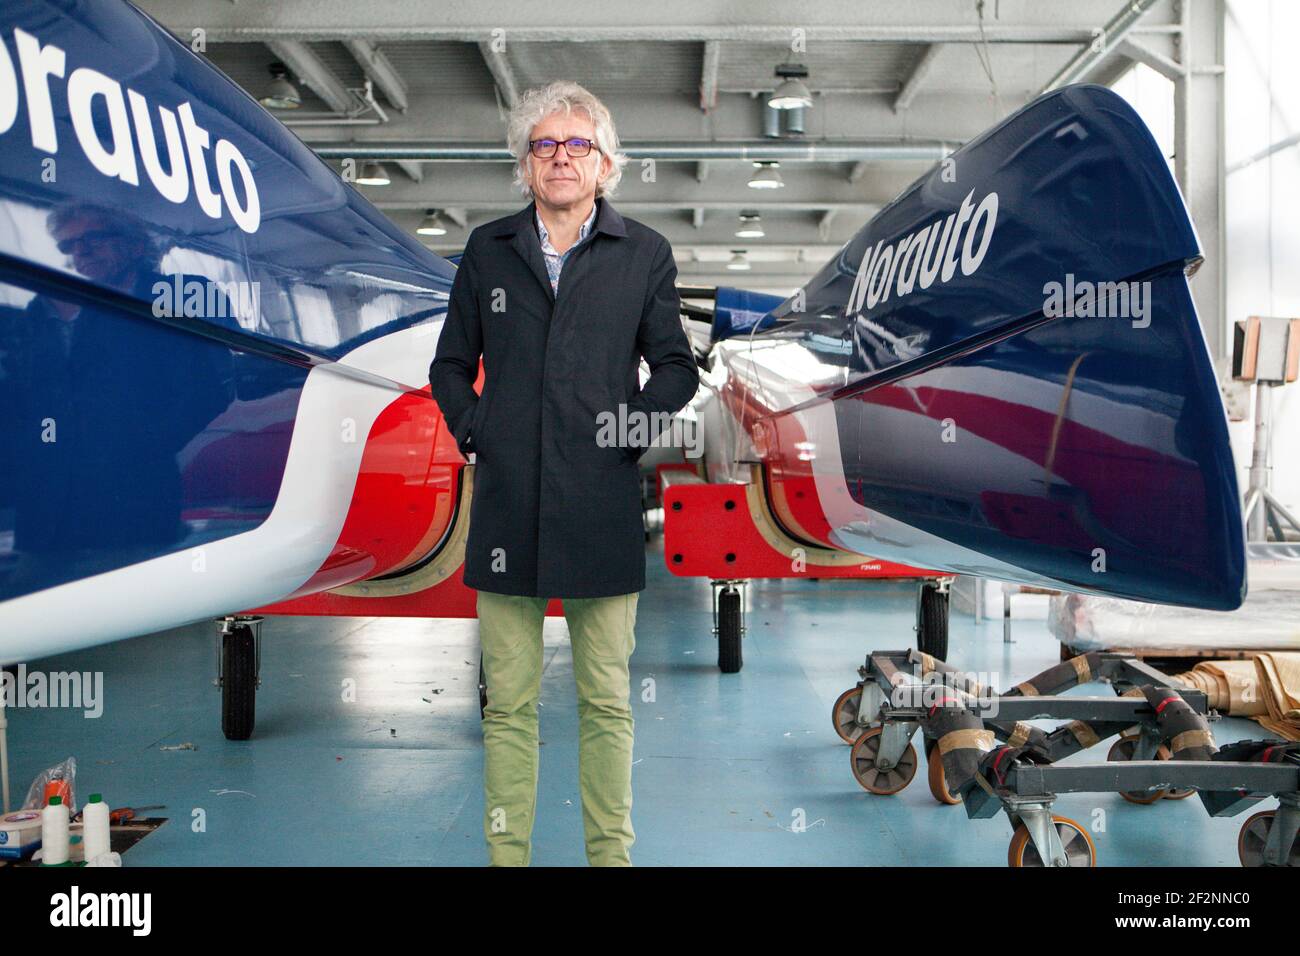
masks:
POLYGON ((1232 609, 1244 535, 1187 287, 1200 251, 1132 109, 1050 94, 883 209, 755 347, 828 385, 845 546, 922 567, 1232 609), (937 239, 936 239, 937 237, 937 239))

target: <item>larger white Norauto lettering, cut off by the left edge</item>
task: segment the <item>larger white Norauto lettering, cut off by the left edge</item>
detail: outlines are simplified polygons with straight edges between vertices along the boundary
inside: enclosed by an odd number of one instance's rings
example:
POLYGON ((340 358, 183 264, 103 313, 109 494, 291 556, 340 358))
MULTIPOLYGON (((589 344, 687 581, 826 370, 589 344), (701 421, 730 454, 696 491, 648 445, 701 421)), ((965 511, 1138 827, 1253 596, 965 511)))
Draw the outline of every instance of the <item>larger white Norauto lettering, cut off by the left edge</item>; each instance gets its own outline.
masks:
MULTIPOLYGON (((42 46, 39 39, 23 30, 16 29, 13 39, 18 51, 17 68, 5 44, 0 42, 0 135, 8 133, 18 118, 21 74, 22 95, 27 103, 27 121, 31 126, 31 146, 55 155, 58 152, 58 135, 55 129, 51 95, 55 81, 62 79, 66 74, 68 57, 55 44, 42 46)), ((116 79, 88 66, 74 69, 66 75, 65 92, 73 131, 82 152, 95 169, 104 176, 139 186, 139 166, 143 165, 153 189, 164 199, 177 204, 190 198, 192 183, 194 198, 207 216, 221 219, 222 200, 225 200, 224 204, 235 225, 246 233, 257 232, 257 226, 261 225, 261 204, 248 161, 229 139, 218 139, 213 146, 208 130, 195 122, 194 109, 188 103, 178 105, 174 113, 162 105, 157 108, 162 138, 166 140, 168 160, 164 172, 159 156, 159 140, 153 133, 152 111, 144 96, 135 90, 124 90, 116 79), (107 142, 95 126, 96 112, 108 120, 107 142), (209 148, 220 193, 213 191, 208 174, 209 148), (243 202, 235 190, 235 177, 239 177, 243 185, 243 202)))

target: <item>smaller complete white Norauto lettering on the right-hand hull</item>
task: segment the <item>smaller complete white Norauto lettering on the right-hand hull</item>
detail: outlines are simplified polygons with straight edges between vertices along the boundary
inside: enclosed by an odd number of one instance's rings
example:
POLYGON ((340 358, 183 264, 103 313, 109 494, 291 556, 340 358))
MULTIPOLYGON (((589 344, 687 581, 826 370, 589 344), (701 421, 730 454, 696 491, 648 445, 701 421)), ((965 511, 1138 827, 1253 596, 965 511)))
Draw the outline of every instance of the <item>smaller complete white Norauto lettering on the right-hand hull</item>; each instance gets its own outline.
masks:
POLYGON ((915 287, 930 289, 957 274, 970 276, 984 261, 997 225, 997 193, 989 193, 975 206, 975 190, 966 194, 961 208, 948 219, 907 233, 897 242, 884 239, 862 256, 858 277, 849 293, 849 315, 872 310, 890 295, 902 298, 915 287))

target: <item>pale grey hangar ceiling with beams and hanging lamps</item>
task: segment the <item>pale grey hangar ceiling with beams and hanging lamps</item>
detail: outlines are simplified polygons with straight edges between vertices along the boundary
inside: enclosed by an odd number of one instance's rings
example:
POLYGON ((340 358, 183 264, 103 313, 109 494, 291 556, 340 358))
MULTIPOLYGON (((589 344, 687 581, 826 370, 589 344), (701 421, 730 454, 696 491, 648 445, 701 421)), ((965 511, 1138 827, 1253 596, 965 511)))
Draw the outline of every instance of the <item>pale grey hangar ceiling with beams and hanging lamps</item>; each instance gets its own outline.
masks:
POLYGON ((302 107, 277 116, 335 168, 400 146, 390 185, 358 189, 411 232, 442 211, 447 234, 421 237, 441 254, 521 204, 503 156, 510 103, 576 79, 633 156, 616 204, 670 238, 682 281, 781 293, 1063 69, 1113 82, 1135 59, 1178 60, 1182 36, 1175 0, 135 1, 254 96, 286 64, 302 107), (802 134, 774 139, 764 109, 783 62, 807 68, 812 107, 802 134), (368 81, 377 108, 361 103, 368 81), (755 148, 774 144, 802 155, 781 157, 784 189, 750 189, 755 148), (734 235, 745 211, 763 238, 734 235), (736 250, 750 272, 725 271, 736 250))

